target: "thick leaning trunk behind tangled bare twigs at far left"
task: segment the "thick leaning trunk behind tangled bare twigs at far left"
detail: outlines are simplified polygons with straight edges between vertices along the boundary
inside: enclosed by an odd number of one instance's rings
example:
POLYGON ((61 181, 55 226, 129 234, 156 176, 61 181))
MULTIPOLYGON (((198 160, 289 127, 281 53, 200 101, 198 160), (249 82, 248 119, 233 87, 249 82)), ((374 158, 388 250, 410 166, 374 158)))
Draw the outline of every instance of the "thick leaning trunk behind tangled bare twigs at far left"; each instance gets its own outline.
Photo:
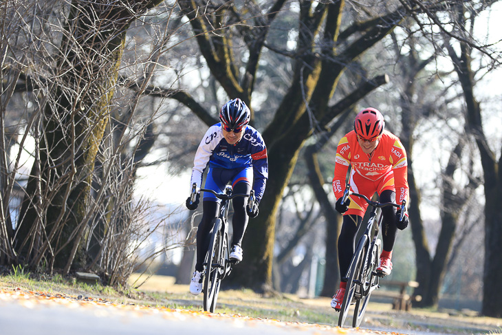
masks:
POLYGON ((159 0, 124 3, 74 0, 56 64, 57 82, 43 119, 40 142, 17 231, 20 259, 45 259, 68 272, 87 220, 94 162, 107 125, 126 28, 135 14, 159 0))

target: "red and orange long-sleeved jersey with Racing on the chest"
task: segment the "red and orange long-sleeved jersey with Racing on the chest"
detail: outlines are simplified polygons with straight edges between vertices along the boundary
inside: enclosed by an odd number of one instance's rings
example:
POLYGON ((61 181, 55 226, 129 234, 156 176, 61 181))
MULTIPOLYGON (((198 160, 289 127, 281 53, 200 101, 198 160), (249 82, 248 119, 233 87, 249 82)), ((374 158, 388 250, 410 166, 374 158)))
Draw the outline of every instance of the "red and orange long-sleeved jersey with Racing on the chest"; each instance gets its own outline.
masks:
POLYGON ((380 137, 380 143, 376 149, 368 155, 362 151, 358 143, 355 131, 347 133, 338 142, 336 149, 335 176, 333 179, 333 191, 336 199, 343 195, 345 190, 345 177, 349 165, 353 173, 376 182, 386 173, 393 171, 396 203, 402 200, 408 201, 408 160, 406 150, 397 136, 389 131, 384 131, 380 137))

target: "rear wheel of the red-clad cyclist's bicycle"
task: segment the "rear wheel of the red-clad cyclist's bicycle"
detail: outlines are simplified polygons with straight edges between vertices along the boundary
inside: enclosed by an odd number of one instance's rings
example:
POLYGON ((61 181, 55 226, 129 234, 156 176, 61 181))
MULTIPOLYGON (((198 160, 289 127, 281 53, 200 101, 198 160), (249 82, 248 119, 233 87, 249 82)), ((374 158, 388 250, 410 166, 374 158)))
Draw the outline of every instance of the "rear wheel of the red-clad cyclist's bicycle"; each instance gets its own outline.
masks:
POLYGON ((382 241, 380 241, 380 239, 376 239, 375 246, 373 246, 371 250, 371 257, 368 258, 366 266, 364 266, 364 270, 362 271, 361 282, 365 282, 367 287, 361 292, 361 298, 356 301, 352 327, 360 326, 362 319, 364 318, 364 312, 366 312, 366 307, 369 303, 369 297, 371 296, 371 287, 373 285, 378 285, 378 276, 375 275, 375 270, 377 268, 381 248, 382 241))

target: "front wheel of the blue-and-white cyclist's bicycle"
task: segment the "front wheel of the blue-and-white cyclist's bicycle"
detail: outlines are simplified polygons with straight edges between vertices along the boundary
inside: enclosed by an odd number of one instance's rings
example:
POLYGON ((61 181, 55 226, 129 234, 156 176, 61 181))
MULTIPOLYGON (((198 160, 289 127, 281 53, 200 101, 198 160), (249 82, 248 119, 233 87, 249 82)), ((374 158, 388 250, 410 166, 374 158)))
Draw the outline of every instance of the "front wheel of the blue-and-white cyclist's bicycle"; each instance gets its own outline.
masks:
POLYGON ((209 242, 208 252, 206 254, 206 271, 204 274, 204 310, 206 312, 214 312, 216 288, 219 285, 219 269, 218 259, 220 257, 220 249, 218 246, 218 236, 220 235, 221 219, 217 219, 212 228, 211 239, 209 242), (212 311, 211 311, 212 310, 212 311))

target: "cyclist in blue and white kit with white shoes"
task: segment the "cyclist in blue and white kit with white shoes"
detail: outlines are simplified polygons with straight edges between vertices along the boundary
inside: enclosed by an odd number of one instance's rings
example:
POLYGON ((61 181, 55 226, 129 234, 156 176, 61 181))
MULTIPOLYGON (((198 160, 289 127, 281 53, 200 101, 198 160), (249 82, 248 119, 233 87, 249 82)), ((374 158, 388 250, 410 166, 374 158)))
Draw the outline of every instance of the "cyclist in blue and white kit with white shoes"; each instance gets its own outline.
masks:
MULTIPOLYGON (((221 107, 220 122, 206 131, 195 153, 190 178, 190 191, 194 183, 197 184, 197 190, 199 190, 202 175, 207 168, 204 188, 222 193, 225 186, 230 183, 233 193, 250 194, 251 189, 254 190, 256 202, 252 208, 247 208, 244 197, 232 199, 234 215, 230 259, 235 261, 242 261, 241 243, 248 225, 248 215, 257 217, 258 205, 265 192, 268 178, 267 148, 261 133, 248 125, 250 116, 250 109, 239 98, 232 99, 221 107)), ((188 197, 186 207, 195 210, 199 204, 199 196, 200 193, 197 192, 197 199, 192 204, 188 197)), ((220 202, 221 200, 215 195, 204 193, 202 219, 197 229, 197 261, 190 282, 190 292, 194 295, 202 290, 204 275, 202 263, 209 247, 211 222, 219 213, 220 202)))

